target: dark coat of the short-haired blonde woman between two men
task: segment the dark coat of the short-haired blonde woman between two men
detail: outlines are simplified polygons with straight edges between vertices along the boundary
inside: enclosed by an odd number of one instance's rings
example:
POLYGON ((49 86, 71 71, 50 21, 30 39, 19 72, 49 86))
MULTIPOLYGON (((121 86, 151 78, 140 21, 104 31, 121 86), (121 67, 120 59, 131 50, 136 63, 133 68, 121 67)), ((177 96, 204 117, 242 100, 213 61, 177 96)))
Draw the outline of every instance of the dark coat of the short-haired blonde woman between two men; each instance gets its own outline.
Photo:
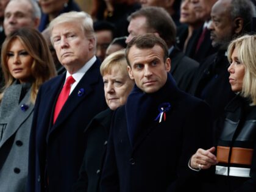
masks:
POLYGON ((85 129, 87 135, 84 160, 79 179, 74 185, 76 192, 97 192, 101 179, 102 166, 107 151, 107 139, 113 111, 107 110, 96 115, 85 129))

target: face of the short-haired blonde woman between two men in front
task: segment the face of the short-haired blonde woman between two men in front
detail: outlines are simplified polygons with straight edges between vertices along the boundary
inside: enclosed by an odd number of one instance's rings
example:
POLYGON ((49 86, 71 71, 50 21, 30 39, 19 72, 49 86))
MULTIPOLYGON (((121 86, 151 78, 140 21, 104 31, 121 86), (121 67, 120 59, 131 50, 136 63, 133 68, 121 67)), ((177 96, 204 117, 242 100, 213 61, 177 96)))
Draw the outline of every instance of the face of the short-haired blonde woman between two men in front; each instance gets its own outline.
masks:
POLYGON ((104 74, 103 82, 108 107, 115 110, 124 105, 134 85, 134 81, 130 79, 127 70, 114 65, 109 74, 104 74))

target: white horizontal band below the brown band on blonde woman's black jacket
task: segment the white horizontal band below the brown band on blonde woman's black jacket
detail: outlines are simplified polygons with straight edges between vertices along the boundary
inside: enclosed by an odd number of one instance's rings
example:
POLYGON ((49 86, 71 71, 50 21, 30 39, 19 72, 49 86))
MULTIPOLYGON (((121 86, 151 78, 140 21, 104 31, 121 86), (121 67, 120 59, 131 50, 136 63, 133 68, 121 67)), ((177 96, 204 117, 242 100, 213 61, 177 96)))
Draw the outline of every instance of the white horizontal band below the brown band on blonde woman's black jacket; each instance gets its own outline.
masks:
MULTIPOLYGON (((250 177, 250 170, 251 169, 249 168, 236 168, 236 167, 230 166, 229 176, 250 177)), ((215 174, 221 175, 221 176, 227 176, 227 167, 216 165, 215 174)))

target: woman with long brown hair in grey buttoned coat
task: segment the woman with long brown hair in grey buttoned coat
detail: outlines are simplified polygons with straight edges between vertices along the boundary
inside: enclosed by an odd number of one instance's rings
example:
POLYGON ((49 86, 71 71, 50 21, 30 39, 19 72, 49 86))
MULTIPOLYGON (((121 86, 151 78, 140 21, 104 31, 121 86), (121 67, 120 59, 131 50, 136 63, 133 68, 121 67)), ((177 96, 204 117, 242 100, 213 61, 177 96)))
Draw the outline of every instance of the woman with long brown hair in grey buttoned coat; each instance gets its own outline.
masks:
POLYGON ((13 32, 2 44, 5 86, 0 94, 0 191, 26 191, 29 135, 41 84, 56 72, 43 36, 13 32))

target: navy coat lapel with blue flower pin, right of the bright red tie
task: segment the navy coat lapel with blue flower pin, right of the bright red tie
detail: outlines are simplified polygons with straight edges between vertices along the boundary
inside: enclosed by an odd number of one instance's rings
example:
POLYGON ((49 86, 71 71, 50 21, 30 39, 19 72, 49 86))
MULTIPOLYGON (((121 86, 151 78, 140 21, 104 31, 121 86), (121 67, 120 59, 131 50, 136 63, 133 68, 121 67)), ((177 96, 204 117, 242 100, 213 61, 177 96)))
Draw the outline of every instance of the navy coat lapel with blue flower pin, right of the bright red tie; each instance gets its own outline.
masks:
MULTIPOLYGON (((93 85, 99 81, 99 66, 98 62, 94 63, 93 66, 87 71, 87 73, 82 77, 79 84, 72 91, 68 100, 62 107, 62 110, 59 113, 54 125, 48 133, 48 137, 63 121, 68 118, 69 115, 76 109, 77 105, 88 96, 88 94, 93 91, 93 85)), ((55 97, 57 98, 57 97, 55 97)), ((56 102, 57 99, 55 99, 56 102)), ((55 103, 54 102, 54 103, 55 103)), ((54 105, 55 106, 55 105, 54 105)), ((53 113, 52 113, 53 114, 53 113)), ((52 121, 51 121, 52 122, 52 121)))

